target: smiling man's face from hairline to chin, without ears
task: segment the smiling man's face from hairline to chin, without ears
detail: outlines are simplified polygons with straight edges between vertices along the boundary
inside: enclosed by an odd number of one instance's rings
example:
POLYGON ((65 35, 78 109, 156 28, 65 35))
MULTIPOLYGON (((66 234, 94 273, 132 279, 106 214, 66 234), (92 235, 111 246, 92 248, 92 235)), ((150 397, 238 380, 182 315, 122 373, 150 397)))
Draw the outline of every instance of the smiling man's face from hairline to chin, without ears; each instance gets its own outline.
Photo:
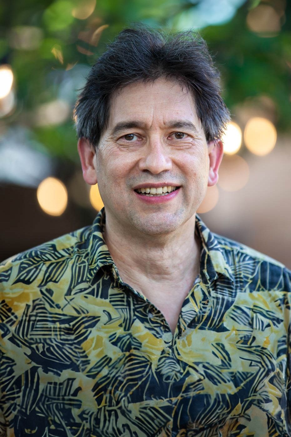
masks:
POLYGON ((106 221, 119 232, 157 235, 183 226, 209 180, 209 146, 192 95, 164 78, 114 94, 93 163, 106 221))

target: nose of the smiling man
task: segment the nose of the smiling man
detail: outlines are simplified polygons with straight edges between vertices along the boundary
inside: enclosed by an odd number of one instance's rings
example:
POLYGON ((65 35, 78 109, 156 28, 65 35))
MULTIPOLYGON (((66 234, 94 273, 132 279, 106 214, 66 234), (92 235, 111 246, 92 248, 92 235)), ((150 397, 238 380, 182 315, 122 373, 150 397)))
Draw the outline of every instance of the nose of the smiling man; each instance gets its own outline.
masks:
POLYGON ((139 169, 147 170, 152 174, 158 174, 171 170, 172 160, 167 146, 160 139, 151 139, 144 147, 144 155, 140 158, 139 169))

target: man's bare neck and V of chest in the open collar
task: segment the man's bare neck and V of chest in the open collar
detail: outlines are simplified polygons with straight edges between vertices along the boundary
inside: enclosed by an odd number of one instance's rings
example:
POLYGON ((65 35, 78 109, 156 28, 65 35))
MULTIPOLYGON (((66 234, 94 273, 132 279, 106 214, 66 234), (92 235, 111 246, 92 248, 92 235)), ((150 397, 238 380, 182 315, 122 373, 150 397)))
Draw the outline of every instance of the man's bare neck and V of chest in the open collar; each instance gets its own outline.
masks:
POLYGON ((123 282, 155 305, 174 333, 183 302, 199 274, 195 215, 166 235, 124 232, 107 219, 105 240, 123 282))

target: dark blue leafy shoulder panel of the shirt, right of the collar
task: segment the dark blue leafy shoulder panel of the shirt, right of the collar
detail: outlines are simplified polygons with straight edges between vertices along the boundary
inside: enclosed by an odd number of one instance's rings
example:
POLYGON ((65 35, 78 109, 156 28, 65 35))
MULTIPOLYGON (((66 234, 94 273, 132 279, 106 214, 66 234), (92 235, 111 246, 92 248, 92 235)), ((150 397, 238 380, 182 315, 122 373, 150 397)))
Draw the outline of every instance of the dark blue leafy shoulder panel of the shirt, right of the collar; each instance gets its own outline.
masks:
POLYGON ((291 291, 291 271, 284 264, 232 239, 213 236, 237 280, 244 278, 250 288, 260 283, 266 289, 291 291))

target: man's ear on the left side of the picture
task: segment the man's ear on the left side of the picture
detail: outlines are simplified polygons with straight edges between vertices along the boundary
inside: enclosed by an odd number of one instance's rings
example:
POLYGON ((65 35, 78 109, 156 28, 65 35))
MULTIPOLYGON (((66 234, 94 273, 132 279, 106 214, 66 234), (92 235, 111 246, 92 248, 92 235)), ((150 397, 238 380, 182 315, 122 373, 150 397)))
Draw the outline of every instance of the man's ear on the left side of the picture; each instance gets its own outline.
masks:
POLYGON ((78 153, 83 170, 83 178, 89 185, 97 184, 97 175, 95 170, 96 153, 92 144, 85 138, 78 141, 78 153))

